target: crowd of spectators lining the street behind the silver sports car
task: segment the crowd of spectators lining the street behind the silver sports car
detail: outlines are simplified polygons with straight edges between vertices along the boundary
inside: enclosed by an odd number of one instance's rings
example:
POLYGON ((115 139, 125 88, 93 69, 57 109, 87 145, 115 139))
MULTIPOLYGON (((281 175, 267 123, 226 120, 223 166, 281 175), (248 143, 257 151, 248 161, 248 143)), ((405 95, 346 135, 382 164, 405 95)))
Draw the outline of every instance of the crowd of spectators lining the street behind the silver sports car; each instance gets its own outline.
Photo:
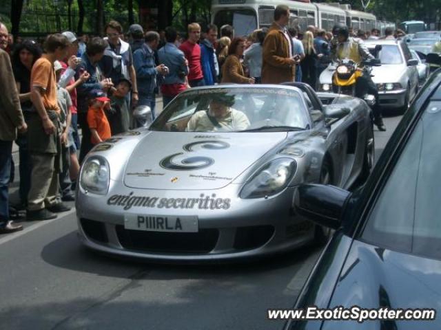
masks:
MULTIPOLYGON (((131 25, 124 34, 110 21, 105 37, 78 38, 74 32, 50 34, 43 45, 13 44, 0 22, 0 232, 23 227, 13 223, 17 210, 28 220, 47 220, 70 209, 80 164, 91 148, 144 123, 135 107, 156 116, 156 94, 163 106, 185 89, 218 83, 278 84, 301 81, 316 88, 320 72, 335 52, 332 32, 309 26, 300 34, 287 28, 289 8, 278 5, 274 23, 249 36, 214 24, 191 23, 184 41, 173 27, 158 33, 131 25), (81 127, 81 139, 79 135, 81 127), (19 146, 19 197, 9 205, 14 179, 12 143, 19 146)), ((360 39, 371 32, 349 31, 360 39)), ((387 29, 385 39, 402 32, 387 29)))

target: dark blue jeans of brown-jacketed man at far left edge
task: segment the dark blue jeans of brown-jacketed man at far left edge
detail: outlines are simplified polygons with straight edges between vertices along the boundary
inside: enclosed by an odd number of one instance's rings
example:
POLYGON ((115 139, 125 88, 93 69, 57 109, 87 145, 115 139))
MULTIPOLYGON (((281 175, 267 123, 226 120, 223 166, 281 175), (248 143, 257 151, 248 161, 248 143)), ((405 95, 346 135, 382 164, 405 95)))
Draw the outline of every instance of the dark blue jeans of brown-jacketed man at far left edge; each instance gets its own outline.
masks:
POLYGON ((11 173, 12 141, 0 140, 0 226, 9 220, 8 184, 11 173))

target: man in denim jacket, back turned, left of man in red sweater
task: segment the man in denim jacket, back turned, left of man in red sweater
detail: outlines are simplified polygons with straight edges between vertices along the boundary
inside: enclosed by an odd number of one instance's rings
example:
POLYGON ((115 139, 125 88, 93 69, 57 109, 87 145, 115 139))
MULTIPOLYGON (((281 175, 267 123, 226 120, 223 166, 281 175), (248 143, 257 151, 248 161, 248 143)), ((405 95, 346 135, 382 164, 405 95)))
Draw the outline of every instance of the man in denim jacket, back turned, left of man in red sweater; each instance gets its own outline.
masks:
POLYGON ((176 95, 187 89, 186 77, 188 75, 188 62, 182 50, 176 47, 178 34, 175 28, 165 28, 167 43, 158 50, 159 62, 166 65, 170 72, 164 77, 161 85, 163 94, 163 107, 165 107, 176 95))

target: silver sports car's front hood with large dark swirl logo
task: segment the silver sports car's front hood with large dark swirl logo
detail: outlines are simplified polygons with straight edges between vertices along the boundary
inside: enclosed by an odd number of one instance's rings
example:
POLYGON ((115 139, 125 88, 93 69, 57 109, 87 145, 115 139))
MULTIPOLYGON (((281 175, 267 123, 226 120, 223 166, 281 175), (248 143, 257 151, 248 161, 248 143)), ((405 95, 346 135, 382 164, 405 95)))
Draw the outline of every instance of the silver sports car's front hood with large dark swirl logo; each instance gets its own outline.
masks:
POLYGON ((146 189, 222 188, 286 137, 286 132, 152 131, 130 155, 124 184, 146 189))

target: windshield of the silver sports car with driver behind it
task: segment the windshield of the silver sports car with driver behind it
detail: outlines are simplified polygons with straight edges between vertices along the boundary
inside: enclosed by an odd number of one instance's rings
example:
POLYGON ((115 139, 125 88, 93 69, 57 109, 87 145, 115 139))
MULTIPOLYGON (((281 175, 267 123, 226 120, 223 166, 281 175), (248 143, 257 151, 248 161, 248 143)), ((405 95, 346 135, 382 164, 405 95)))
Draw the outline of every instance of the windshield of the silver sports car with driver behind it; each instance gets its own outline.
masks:
POLYGON ((180 94, 153 122, 153 131, 240 132, 308 128, 300 93, 280 88, 210 88, 180 94))

